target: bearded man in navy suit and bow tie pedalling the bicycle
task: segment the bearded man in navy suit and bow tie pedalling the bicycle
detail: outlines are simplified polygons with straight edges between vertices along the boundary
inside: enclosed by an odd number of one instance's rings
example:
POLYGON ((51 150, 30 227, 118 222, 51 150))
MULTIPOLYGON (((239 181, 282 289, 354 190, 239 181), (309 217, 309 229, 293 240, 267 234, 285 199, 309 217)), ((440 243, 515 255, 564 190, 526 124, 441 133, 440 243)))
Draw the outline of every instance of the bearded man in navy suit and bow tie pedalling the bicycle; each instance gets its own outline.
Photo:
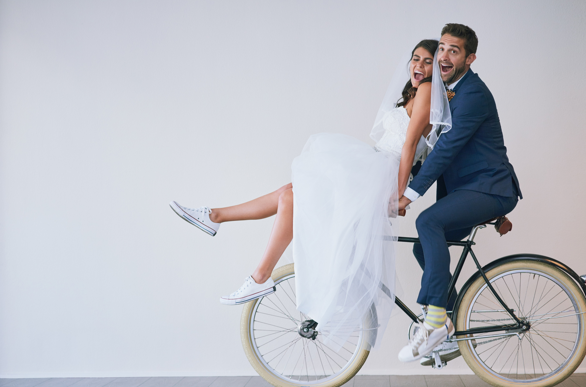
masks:
POLYGON ((477 46, 476 33, 468 26, 449 23, 442 29, 437 60, 447 86, 452 128, 440 136, 399 199, 399 209, 404 209, 435 181, 442 188, 438 188, 438 201, 415 222, 423 247, 418 259, 424 261, 417 302, 428 305, 428 313, 423 327, 401 349, 401 361, 430 354, 454 334, 446 315, 451 277, 446 240, 463 239, 473 226, 506 215, 517 205, 517 197, 523 198, 507 158, 495 100, 470 69, 477 46))

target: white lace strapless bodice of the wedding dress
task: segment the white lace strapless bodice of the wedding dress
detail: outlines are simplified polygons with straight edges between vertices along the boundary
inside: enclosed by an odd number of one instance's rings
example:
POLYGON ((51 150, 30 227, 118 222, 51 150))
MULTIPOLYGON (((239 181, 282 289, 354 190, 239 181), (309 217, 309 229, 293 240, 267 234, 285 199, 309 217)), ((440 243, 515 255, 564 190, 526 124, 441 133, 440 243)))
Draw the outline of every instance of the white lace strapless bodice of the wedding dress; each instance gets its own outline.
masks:
MULTIPOLYGON (((410 120, 407 110, 403 106, 387 111, 383 116, 383 137, 381 137, 374 146, 381 151, 389 152, 398 161, 401 161, 401 151, 403 150, 403 144, 405 144, 407 138, 407 127, 409 126, 410 120)), ((425 142, 425 137, 422 135, 417 143, 413 165, 415 165, 415 162, 417 162, 421 156, 425 157, 426 150, 427 144, 425 142)))

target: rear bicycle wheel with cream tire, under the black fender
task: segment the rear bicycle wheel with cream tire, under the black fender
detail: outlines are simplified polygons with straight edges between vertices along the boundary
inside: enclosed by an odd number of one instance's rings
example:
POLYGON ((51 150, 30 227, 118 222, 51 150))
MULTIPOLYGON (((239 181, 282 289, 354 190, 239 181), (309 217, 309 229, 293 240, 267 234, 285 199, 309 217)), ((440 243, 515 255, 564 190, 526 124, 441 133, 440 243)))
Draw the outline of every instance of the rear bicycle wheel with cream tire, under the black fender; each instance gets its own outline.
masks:
MULTIPOLYGON (((496 386, 546 387, 560 383, 580 365, 586 353, 586 299, 580 286, 553 264, 535 260, 502 263, 486 273, 509 308, 530 328, 475 335, 458 345, 476 375, 496 386)), ((462 296, 458 330, 513 324, 482 277, 462 296)), ((462 338, 462 337, 458 337, 462 338)))

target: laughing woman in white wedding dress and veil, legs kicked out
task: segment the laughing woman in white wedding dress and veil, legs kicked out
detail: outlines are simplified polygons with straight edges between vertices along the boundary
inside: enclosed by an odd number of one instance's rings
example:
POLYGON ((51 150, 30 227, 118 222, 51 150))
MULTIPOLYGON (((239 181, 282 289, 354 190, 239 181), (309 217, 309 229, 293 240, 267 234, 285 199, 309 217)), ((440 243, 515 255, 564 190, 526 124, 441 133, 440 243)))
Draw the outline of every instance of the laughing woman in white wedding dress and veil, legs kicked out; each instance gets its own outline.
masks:
POLYGON ((224 208, 170 203, 177 215, 212 236, 224 222, 277 214, 257 268, 220 303, 236 305, 273 293, 271 272, 292 241, 297 309, 339 341, 374 304, 379 324, 384 322, 382 334, 394 303, 389 218, 404 215, 397 201, 411 168, 424 160, 438 133, 451 127, 434 60, 437 47, 437 40, 421 40, 407 68, 400 66, 393 77, 370 135, 374 147, 348 135, 315 134, 293 161, 292 182, 277 191, 224 208))

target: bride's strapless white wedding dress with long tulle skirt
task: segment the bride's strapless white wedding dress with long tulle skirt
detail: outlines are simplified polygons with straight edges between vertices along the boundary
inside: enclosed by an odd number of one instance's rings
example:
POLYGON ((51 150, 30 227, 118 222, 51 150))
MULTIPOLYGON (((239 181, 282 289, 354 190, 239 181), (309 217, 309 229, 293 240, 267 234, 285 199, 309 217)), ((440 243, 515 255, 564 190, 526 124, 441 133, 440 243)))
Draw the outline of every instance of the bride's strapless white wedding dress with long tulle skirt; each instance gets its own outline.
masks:
MULTIPOLYGON (((374 148, 349 135, 312 135, 292 164, 297 309, 318 322, 326 344, 336 350, 373 304, 376 314, 369 315, 377 320, 374 326, 380 324, 379 337, 393 309, 389 216, 396 216, 408 124, 405 108, 388 111, 384 135, 374 148)), ((421 137, 415 161, 426 151, 421 137)), ((376 335, 370 337, 374 346, 376 335)))

